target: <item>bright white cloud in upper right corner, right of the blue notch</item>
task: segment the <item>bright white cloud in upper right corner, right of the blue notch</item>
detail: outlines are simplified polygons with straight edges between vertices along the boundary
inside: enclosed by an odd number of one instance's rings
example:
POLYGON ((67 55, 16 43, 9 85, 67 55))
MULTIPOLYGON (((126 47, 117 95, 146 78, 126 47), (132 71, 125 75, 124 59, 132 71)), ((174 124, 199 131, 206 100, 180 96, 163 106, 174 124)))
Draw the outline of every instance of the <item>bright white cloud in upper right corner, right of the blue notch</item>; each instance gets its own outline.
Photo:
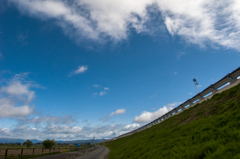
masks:
POLYGON ((207 42, 240 50, 238 1, 158 1, 168 31, 204 47, 207 42), (237 6, 237 7, 236 7, 237 6))

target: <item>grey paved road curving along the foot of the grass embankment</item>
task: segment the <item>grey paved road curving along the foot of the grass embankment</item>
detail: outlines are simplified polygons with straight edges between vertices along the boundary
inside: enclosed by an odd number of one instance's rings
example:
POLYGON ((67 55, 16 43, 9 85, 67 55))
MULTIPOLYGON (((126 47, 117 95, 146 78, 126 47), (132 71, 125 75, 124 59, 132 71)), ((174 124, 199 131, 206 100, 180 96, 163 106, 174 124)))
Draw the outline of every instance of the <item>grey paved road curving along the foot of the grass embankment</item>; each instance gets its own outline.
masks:
POLYGON ((110 150, 107 147, 99 146, 97 150, 75 159, 107 159, 109 152, 110 150))

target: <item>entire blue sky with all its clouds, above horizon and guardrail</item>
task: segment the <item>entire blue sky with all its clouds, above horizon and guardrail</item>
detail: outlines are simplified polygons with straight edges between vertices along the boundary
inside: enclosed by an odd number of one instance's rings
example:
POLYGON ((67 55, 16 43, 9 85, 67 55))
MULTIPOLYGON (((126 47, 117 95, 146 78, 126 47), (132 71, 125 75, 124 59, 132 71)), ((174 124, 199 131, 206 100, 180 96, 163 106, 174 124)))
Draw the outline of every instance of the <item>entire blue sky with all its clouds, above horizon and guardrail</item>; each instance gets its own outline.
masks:
POLYGON ((239 10, 238 1, 1 1, 0 137, 109 138, 154 120, 195 95, 193 78, 201 91, 239 67, 239 10))

